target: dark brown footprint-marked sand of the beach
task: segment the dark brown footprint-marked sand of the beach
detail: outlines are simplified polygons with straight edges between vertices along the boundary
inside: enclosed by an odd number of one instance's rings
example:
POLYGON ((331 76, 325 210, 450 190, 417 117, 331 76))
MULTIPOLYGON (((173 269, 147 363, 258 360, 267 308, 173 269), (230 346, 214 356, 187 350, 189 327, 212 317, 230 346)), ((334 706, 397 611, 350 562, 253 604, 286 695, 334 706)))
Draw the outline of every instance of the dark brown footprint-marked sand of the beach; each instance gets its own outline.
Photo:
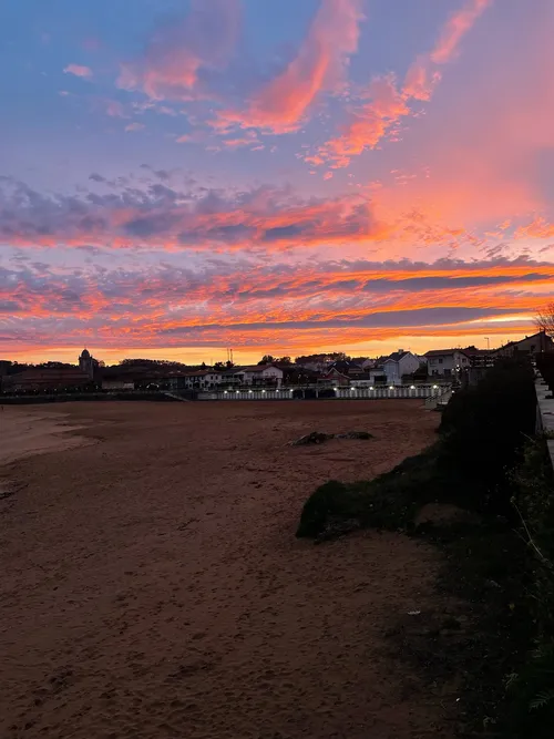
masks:
POLYGON ((2 739, 451 736, 384 638, 429 602, 435 553, 393 534, 294 536, 317 484, 418 452, 435 414, 412 401, 62 410, 96 443, 0 471, 21 486, 0 501, 2 739), (376 439, 285 445, 314 430, 376 439))

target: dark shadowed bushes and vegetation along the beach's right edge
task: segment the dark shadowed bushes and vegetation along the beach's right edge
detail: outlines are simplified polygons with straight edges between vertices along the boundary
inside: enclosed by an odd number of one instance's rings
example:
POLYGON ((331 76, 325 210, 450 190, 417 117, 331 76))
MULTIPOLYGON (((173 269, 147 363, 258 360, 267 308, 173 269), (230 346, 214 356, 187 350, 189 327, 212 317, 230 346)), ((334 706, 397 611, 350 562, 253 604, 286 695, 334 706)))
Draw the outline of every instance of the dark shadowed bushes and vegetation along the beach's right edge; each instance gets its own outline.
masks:
POLYGON ((469 625, 431 618, 424 638, 399 626, 403 656, 435 682, 461 676, 462 736, 543 739, 554 731, 553 497, 545 440, 535 437, 533 370, 506 360, 452 398, 422 454, 371 481, 318 487, 297 535, 319 542, 370 526, 441 547, 438 588, 464 604, 469 625), (417 525, 418 512, 437 503, 464 515, 417 525))

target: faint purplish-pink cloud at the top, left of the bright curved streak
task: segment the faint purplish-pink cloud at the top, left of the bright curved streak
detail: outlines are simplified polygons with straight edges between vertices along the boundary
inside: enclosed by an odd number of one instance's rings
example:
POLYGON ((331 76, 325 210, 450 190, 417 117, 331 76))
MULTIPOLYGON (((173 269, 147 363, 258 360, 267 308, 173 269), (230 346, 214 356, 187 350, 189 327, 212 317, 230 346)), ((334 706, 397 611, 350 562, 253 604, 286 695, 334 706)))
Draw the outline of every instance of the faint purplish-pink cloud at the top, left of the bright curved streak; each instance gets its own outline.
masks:
POLYGON ((222 69, 235 48, 237 0, 192 0, 181 21, 156 29, 144 55, 121 65, 117 86, 152 100, 191 100, 203 69, 222 69))

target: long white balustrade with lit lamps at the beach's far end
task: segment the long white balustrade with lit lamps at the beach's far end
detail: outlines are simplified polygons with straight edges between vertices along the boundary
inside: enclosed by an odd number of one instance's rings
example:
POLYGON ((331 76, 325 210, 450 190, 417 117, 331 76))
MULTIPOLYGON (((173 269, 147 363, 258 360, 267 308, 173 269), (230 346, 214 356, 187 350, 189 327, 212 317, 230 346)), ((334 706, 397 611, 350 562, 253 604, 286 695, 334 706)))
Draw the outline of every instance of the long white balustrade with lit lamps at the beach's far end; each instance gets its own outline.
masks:
MULTIPOLYGON (((444 384, 398 384, 372 388, 325 388, 334 391, 331 400, 384 400, 384 399, 427 399, 439 398, 450 390, 444 384)), ((280 388, 279 390, 267 390, 253 388, 249 390, 225 390, 219 392, 201 392, 198 400, 296 400, 297 398, 316 398, 324 388, 280 388), (296 391, 296 392, 295 392, 296 391), (301 393, 301 394, 300 394, 301 393)))

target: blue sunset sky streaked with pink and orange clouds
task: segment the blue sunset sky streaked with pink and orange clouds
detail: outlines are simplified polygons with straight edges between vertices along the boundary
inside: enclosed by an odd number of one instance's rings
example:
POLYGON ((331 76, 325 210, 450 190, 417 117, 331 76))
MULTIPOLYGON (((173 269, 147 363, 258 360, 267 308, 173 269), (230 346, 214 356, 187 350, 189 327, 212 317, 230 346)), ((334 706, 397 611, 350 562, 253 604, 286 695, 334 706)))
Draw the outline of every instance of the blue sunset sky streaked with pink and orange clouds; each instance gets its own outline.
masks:
POLYGON ((553 33, 552 0, 3 0, 0 359, 533 332, 553 33))

